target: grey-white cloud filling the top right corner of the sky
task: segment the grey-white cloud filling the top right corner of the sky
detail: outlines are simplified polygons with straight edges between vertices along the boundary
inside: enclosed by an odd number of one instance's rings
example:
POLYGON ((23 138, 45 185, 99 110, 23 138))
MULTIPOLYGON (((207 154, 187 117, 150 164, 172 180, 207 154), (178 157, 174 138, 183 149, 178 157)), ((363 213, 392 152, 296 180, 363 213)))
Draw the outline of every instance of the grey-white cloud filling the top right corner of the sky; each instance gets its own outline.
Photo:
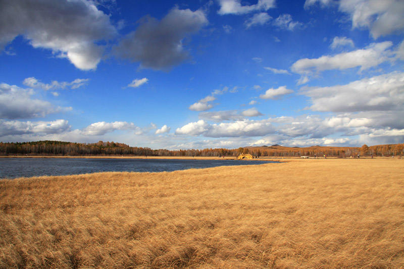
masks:
POLYGON ((349 15, 352 28, 367 28, 373 38, 404 30, 404 2, 401 0, 306 0, 305 8, 316 3, 322 7, 338 3, 339 10, 349 15))

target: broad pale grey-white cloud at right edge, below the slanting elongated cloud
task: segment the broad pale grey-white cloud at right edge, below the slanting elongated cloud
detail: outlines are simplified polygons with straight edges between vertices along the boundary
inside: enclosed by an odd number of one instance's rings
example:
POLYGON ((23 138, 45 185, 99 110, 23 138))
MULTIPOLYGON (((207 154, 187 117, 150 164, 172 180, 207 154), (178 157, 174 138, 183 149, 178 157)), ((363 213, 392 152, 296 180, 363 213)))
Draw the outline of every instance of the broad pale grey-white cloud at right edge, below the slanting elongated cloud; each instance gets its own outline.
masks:
POLYGON ((404 111, 404 73, 393 72, 331 87, 304 88, 311 110, 331 112, 404 111))

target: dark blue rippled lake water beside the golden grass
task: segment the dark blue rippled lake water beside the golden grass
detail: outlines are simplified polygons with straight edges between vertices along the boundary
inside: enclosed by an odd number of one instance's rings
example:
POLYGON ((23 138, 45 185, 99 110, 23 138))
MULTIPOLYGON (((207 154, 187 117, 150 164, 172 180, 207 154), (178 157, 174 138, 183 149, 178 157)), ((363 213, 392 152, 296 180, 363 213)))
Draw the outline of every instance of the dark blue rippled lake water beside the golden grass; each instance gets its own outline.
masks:
MULTIPOLYGON (((96 172, 171 172, 190 168, 262 165, 260 160, 0 158, 0 179, 96 172)), ((276 163, 276 162, 271 162, 276 163)))

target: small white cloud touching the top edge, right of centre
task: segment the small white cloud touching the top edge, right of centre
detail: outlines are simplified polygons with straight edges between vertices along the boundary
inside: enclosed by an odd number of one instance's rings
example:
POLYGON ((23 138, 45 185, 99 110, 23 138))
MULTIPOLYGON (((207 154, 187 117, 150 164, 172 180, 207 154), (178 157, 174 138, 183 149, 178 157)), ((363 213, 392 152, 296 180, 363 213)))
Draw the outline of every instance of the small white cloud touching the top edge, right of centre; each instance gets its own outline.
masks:
POLYGON ((250 6, 242 6, 240 0, 219 0, 220 15, 226 14, 246 14, 250 12, 264 10, 267 11, 270 8, 275 7, 275 0, 258 0, 258 3, 250 6))

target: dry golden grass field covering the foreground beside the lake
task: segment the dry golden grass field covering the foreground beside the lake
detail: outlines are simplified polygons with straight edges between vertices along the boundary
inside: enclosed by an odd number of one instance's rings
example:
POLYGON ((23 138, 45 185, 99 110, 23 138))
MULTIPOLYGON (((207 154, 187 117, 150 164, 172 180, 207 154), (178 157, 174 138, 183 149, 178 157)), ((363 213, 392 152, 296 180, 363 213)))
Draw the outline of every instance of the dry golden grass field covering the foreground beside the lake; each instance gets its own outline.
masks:
POLYGON ((0 267, 404 267, 404 160, 0 181, 0 267))

